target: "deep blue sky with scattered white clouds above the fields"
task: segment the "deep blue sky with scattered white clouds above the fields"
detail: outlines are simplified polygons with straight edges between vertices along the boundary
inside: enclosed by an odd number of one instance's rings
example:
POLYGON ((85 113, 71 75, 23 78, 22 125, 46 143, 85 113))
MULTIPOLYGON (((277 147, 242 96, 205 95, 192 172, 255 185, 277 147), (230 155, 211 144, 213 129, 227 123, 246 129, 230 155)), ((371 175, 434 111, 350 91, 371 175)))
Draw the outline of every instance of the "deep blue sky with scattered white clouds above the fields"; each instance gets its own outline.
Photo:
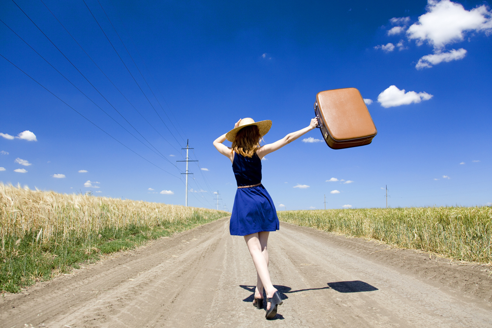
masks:
POLYGON ((183 205, 189 139, 188 205, 231 210, 213 140, 251 117, 274 142, 353 87, 377 136, 333 150, 316 129, 266 156, 277 209, 384 207, 386 185, 392 207, 491 205, 487 2, 43 1, 1 2, 3 183, 183 205))

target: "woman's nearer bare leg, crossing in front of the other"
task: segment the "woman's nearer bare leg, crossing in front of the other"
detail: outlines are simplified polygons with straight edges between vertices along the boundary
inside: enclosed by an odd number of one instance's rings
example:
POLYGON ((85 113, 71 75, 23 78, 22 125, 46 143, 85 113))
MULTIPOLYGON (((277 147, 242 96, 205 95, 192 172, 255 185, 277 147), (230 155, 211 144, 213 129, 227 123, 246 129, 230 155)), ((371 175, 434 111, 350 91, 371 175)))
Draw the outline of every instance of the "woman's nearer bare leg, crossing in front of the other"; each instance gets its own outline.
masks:
POLYGON ((262 289, 265 289, 267 298, 271 298, 277 289, 272 285, 270 273, 268 272, 268 232, 246 235, 245 240, 256 268, 257 277, 259 277, 258 282, 261 283, 262 289))

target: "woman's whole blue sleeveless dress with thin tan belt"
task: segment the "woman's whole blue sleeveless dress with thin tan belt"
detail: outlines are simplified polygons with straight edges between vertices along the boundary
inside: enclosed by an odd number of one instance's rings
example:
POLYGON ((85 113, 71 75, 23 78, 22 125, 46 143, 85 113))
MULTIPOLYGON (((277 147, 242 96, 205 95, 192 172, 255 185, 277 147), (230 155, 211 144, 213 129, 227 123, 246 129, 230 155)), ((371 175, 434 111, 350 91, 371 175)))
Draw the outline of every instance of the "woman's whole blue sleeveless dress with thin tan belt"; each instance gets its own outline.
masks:
MULTIPOLYGON (((232 170, 239 186, 261 182, 261 160, 255 153, 245 157, 234 153, 232 170)), ((261 231, 276 231, 279 228, 277 210, 263 185, 238 188, 234 198, 229 229, 233 236, 246 236, 261 231)))

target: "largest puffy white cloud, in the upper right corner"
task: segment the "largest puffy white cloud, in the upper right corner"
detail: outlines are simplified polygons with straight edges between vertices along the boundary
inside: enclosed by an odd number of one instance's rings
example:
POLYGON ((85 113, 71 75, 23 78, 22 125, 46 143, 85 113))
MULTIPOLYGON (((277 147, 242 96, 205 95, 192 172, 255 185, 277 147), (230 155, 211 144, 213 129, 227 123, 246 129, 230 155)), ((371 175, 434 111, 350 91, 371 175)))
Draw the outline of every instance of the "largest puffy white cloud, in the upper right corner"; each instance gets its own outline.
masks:
POLYGON ((492 12, 486 5, 468 11, 450 0, 428 0, 426 10, 406 31, 408 39, 415 39, 418 45, 427 41, 434 49, 442 49, 462 41, 466 31, 489 34, 492 30, 492 12))

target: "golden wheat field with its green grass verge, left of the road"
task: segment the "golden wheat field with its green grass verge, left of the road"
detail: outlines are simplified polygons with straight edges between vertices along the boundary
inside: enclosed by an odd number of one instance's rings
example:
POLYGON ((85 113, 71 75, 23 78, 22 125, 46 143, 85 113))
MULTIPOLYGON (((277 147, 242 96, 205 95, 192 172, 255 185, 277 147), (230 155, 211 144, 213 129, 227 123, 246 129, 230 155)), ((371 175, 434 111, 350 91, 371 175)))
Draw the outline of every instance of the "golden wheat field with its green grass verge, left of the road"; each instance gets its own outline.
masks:
POLYGON ((0 291, 18 291, 98 254, 227 215, 215 209, 60 194, 0 182, 0 291))

